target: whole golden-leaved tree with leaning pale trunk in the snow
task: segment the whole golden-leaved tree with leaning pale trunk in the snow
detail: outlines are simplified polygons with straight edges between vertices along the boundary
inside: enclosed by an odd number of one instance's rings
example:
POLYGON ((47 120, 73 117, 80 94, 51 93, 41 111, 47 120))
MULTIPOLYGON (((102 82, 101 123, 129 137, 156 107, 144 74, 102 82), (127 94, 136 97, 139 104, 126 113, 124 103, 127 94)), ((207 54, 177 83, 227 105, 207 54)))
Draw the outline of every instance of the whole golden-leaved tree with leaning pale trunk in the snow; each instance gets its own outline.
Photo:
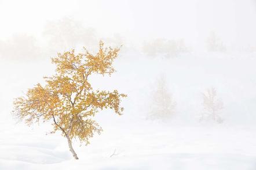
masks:
POLYGON ((41 119, 43 122, 53 120, 52 133, 61 131, 75 159, 78 156, 72 147, 72 139, 87 145, 94 133, 102 131, 93 116, 104 108, 113 109, 118 115, 123 111, 120 101, 125 94, 118 90, 93 90, 88 80, 93 73, 110 76, 115 71, 112 62, 118 56, 119 48, 103 46, 100 41, 96 55, 86 49, 79 54, 75 54, 75 50, 58 53, 52 58, 57 67, 56 74, 44 77, 46 85, 37 84, 28 89, 26 95, 14 100, 14 116, 28 125, 41 119))

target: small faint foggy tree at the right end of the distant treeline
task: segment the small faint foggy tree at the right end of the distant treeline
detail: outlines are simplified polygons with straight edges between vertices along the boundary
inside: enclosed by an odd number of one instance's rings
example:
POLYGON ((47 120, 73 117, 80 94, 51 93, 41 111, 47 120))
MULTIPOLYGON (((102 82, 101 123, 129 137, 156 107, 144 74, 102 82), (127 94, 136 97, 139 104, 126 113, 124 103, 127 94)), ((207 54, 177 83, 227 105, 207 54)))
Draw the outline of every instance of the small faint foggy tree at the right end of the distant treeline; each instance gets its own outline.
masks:
POLYGON ((226 47, 224 46, 220 37, 216 35, 215 32, 211 32, 210 36, 207 38, 206 41, 207 50, 211 52, 224 52, 226 51, 226 47))

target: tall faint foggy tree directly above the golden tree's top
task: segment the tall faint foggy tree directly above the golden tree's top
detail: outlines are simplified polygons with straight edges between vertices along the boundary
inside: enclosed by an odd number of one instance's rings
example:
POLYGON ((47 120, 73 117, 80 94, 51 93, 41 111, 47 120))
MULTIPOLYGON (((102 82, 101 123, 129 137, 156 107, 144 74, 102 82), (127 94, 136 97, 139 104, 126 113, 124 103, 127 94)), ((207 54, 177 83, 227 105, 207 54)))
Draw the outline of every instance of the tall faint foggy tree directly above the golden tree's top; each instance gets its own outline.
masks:
MULTIPOLYGON (((84 27, 81 22, 72 17, 46 22, 43 36, 50 43, 50 51, 67 50, 85 44, 93 50, 97 48, 97 32, 94 28, 84 27)), ((49 51, 49 50, 48 50, 49 51)))

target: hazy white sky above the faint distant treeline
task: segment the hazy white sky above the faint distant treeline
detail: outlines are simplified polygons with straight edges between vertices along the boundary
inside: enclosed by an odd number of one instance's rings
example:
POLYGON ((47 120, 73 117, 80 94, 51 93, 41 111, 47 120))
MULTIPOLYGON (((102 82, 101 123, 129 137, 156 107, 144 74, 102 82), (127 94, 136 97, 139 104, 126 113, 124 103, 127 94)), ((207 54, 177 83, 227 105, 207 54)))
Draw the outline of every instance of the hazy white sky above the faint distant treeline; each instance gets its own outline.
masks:
POLYGON ((100 36, 118 34, 131 43, 165 38, 195 45, 214 31, 228 45, 256 46, 255 0, 0 0, 0 44, 17 34, 44 39, 47 24, 67 17, 100 36))

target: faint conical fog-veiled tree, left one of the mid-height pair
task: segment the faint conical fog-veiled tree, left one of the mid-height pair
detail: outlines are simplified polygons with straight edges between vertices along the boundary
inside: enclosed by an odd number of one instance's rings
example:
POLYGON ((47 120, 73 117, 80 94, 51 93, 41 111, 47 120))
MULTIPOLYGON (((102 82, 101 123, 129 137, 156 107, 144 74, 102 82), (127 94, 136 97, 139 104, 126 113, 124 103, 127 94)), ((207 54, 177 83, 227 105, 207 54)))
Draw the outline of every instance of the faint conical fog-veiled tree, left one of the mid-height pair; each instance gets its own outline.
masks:
POLYGON ((158 79, 156 90, 152 94, 148 119, 167 120, 173 116, 176 103, 166 84, 165 78, 162 76, 158 79))

